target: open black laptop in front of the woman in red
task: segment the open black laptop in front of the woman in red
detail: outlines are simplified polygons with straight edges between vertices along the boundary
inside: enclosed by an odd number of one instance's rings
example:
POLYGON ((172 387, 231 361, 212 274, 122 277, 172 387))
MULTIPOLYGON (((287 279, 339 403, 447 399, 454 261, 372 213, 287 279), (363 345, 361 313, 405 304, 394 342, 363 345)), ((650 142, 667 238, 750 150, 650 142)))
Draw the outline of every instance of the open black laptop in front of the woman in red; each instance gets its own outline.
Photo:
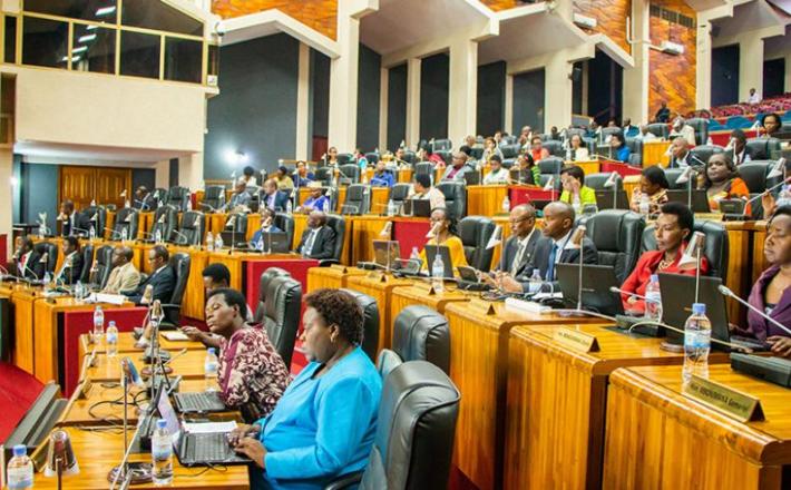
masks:
MULTIPOLYGON (((556 265, 557 281, 566 306, 577 307, 579 291, 579 264, 556 265)), ((624 314, 621 295, 609 291, 619 287, 615 268, 608 265, 583 265, 583 307, 603 315, 624 314)))

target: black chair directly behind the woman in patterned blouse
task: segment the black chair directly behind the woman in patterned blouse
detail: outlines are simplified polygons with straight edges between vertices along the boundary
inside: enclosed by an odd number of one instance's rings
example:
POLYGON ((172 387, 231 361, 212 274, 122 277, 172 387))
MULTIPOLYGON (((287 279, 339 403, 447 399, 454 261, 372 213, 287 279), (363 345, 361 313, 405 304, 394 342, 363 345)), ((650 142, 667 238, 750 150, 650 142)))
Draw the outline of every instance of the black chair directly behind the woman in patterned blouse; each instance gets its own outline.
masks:
POLYGON ((291 276, 272 277, 266 287, 263 326, 286 367, 294 354, 301 308, 302 284, 291 276))

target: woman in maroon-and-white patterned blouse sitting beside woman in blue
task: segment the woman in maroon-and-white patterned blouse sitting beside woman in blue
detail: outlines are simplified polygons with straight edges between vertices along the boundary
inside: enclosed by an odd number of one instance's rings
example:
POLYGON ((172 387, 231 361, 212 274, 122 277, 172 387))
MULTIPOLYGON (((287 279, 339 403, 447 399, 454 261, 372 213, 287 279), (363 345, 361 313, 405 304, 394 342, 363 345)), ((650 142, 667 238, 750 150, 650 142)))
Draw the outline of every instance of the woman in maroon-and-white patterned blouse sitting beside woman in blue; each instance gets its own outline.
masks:
POLYGON ((289 370, 258 325, 245 323, 247 304, 242 293, 214 290, 206 302, 206 324, 221 336, 219 394, 245 421, 266 416, 283 395, 289 370))

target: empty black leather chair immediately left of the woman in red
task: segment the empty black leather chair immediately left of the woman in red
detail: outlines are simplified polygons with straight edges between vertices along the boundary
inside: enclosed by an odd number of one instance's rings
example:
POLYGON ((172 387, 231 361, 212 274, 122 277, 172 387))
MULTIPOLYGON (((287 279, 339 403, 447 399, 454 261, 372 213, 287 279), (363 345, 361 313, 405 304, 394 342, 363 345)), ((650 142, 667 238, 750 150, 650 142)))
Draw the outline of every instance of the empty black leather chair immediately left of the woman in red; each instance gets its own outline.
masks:
POLYGON ((598 264, 614 267, 623 284, 637 263, 645 219, 631 210, 603 209, 585 219, 585 226, 598 251, 598 264))

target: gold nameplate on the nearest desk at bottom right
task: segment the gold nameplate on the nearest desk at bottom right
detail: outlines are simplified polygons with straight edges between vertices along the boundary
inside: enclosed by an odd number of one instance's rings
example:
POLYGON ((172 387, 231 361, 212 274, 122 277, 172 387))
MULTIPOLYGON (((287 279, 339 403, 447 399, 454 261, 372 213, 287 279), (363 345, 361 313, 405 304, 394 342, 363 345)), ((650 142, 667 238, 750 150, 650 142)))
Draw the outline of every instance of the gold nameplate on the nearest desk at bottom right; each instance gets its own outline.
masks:
POLYGON ((690 382, 683 385, 682 392, 740 422, 764 420, 761 400, 724 384, 693 374, 690 382))

